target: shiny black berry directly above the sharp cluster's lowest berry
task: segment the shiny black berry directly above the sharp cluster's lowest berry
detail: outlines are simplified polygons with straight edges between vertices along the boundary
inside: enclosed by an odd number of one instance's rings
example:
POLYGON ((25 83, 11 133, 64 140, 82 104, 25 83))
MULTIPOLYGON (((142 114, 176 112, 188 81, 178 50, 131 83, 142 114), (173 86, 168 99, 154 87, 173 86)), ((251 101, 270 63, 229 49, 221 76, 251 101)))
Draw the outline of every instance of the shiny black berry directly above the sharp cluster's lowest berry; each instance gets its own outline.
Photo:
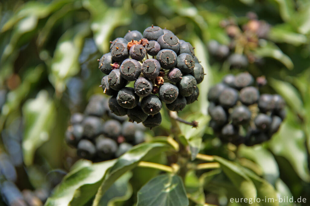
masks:
POLYGON ((150 94, 141 100, 141 108, 145 114, 157 114, 162 109, 162 102, 159 97, 150 94))

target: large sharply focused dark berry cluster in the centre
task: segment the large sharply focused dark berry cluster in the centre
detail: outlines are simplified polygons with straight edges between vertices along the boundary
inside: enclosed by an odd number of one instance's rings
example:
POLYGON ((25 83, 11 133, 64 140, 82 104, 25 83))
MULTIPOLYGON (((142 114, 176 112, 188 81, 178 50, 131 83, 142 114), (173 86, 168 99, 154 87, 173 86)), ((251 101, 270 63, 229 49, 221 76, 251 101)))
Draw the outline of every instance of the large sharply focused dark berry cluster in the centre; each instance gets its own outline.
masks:
POLYGON ((110 43, 110 52, 98 61, 113 114, 152 128, 161 124, 162 103, 178 112, 197 100, 205 74, 190 43, 153 25, 143 35, 129 31, 110 43))

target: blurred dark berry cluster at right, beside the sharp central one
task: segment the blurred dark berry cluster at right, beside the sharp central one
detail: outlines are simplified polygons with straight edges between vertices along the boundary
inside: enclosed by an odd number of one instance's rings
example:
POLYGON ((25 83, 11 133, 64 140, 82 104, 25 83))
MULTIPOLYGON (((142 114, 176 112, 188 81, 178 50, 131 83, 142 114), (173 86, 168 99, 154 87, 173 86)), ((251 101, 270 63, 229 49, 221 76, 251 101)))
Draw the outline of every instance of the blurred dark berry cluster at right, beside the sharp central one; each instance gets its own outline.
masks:
POLYGON ((209 126, 222 142, 252 146, 278 131, 286 116, 285 101, 278 94, 260 94, 254 84, 253 76, 244 72, 226 75, 210 88, 209 126))

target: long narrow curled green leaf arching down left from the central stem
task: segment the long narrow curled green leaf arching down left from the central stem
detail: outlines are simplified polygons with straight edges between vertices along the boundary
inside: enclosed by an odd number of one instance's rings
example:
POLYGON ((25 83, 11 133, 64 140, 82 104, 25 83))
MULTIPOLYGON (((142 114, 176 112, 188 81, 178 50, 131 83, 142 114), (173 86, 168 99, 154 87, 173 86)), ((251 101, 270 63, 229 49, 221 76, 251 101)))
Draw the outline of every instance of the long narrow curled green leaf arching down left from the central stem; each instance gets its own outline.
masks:
POLYGON ((132 147, 128 152, 117 158, 116 163, 109 170, 109 173, 104 178, 100 188, 95 196, 93 206, 99 205, 101 197, 105 194, 108 188, 127 171, 135 168, 140 161, 144 161, 152 156, 164 152, 171 146, 162 143, 144 143, 132 147))

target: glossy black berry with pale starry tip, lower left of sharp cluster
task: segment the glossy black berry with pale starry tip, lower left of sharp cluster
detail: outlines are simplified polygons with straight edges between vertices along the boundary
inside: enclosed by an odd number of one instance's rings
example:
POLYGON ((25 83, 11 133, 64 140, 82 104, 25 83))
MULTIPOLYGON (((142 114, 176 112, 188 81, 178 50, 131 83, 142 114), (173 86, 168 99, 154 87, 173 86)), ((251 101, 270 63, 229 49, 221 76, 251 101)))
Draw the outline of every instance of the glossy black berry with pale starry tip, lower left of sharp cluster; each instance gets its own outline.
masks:
POLYGON ((140 97, 135 93, 134 88, 125 87, 119 90, 116 100, 122 107, 131 109, 138 105, 140 97))

